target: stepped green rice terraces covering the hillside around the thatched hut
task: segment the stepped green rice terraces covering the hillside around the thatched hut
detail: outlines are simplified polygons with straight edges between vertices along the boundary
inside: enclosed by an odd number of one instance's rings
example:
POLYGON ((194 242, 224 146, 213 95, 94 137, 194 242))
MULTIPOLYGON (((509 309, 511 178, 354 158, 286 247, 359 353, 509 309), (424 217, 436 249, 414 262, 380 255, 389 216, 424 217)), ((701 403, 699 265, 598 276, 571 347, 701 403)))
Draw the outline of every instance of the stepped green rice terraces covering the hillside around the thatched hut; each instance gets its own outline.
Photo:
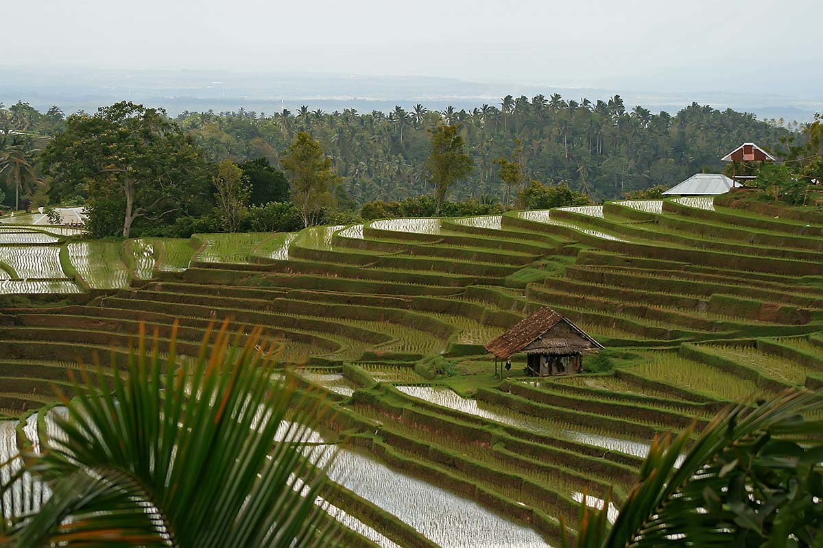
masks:
MULTIPOLYGON (((113 352, 128 353, 141 323, 165 348, 179 320, 183 354, 223 320, 262 325, 283 374, 332 402, 332 443, 556 543, 560 518, 576 526, 580 493, 614 486, 625 499, 656 433, 701 427, 741 398, 823 388, 819 227, 717 202, 657 211, 127 241, 4 226, 42 236, 0 242, 0 291, 78 293, 0 294, 0 415, 53 403, 52 385, 70 392, 78 359, 114 375, 113 352), (509 378, 495 377, 483 344, 544 305, 607 349, 584 375, 530 380, 516 355, 509 378)), ((398 546, 435 546, 373 492, 329 497, 398 546)))

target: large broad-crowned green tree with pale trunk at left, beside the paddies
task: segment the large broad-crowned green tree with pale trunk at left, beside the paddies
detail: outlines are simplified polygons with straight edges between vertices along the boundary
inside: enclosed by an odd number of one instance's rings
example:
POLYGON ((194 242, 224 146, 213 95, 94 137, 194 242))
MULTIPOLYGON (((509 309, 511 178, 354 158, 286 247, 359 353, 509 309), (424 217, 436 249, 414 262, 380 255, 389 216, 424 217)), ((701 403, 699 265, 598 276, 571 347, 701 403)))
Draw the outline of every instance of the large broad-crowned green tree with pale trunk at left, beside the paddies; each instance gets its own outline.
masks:
POLYGON ((156 221, 195 208, 207 196, 210 168, 202 150, 160 109, 121 102, 68 117, 42 155, 52 177, 50 196, 88 198, 90 226, 114 235, 115 214, 123 237, 137 219, 156 221))

